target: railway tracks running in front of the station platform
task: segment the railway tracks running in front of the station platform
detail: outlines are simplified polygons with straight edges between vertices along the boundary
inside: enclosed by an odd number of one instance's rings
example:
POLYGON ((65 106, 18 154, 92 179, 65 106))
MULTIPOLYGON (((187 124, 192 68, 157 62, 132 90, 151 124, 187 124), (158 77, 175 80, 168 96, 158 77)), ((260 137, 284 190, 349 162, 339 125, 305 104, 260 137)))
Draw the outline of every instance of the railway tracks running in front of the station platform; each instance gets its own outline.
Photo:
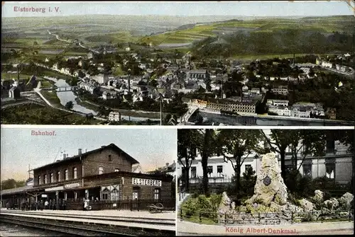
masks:
MULTIPOLYGON (((18 214, 0 213, 0 222, 43 229, 70 236, 175 236, 174 226, 168 229, 159 224, 152 224, 150 220, 143 223, 131 221, 113 221, 112 219, 98 218, 95 216, 55 214, 18 214), (87 218, 91 217, 91 218, 87 218)), ((111 216, 114 217, 114 216, 111 216)))

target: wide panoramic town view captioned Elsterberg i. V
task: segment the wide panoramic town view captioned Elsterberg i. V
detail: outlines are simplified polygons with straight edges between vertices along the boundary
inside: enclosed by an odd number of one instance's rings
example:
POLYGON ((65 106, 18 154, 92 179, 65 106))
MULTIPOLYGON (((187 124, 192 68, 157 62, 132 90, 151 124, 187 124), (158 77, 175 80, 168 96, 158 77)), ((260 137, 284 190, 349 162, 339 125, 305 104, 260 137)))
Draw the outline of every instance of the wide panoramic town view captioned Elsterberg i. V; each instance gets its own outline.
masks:
POLYGON ((354 126, 353 1, 2 4, 1 124, 354 126))

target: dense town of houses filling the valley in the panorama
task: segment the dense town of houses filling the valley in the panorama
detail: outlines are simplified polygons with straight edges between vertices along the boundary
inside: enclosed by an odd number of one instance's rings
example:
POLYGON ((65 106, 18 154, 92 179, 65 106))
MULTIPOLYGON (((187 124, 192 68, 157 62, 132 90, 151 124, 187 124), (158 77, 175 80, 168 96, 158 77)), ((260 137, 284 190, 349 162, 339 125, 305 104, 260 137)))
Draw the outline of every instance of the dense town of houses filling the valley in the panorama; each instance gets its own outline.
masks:
MULTIPOLYGON (((146 47, 151 49, 150 46, 146 47)), ((153 111, 158 112, 160 104, 162 125, 163 113, 175 115, 170 125, 193 125, 196 119, 193 115, 198 112, 219 116, 262 116, 270 120, 285 117, 338 120, 336 108, 307 100, 299 101, 297 98, 290 101, 290 94, 294 93, 293 88, 297 85, 317 78, 318 71, 354 76, 354 69, 337 64, 344 59, 351 59, 349 53, 324 58, 312 55, 316 57, 315 63, 297 63, 295 55, 293 58, 256 59, 249 63, 227 59, 197 61, 192 60, 190 52, 180 53, 180 58, 164 57, 159 53, 148 57, 149 54, 133 52, 130 47, 126 47, 124 54, 114 62, 111 56, 105 59, 109 54, 112 54, 111 51, 104 47, 102 52, 90 50, 86 56, 64 57, 60 62, 45 58, 44 62, 36 62, 35 66, 72 78, 70 91, 76 95, 81 91, 81 94, 86 94, 88 103, 108 108, 109 113, 102 116, 102 120, 121 121, 121 112, 114 110, 126 109, 121 108, 121 103, 131 105, 131 109, 133 105, 138 105, 133 109, 147 112, 154 106, 153 111), (274 76, 263 73, 266 67, 274 70, 271 73, 274 76), (281 67, 287 69, 275 74, 275 70, 281 67), (117 69, 125 69, 126 74, 121 70, 123 73, 115 75, 117 69), (178 109, 175 105, 167 109, 171 102, 177 104, 178 109), (144 103, 146 106, 140 108, 144 103), (114 108, 110 107, 112 104, 115 104, 114 108)), ((13 71, 7 73, 16 75, 18 65, 12 66, 13 71)), ((43 79, 50 80, 50 76, 43 76, 43 79)), ((1 100, 6 95, 12 100, 23 97, 28 84, 32 85, 30 88, 33 90, 38 88, 36 75, 27 82, 19 76, 18 79, 1 79, 1 100)), ((341 93, 342 87, 343 83, 339 80, 334 91, 341 93)))

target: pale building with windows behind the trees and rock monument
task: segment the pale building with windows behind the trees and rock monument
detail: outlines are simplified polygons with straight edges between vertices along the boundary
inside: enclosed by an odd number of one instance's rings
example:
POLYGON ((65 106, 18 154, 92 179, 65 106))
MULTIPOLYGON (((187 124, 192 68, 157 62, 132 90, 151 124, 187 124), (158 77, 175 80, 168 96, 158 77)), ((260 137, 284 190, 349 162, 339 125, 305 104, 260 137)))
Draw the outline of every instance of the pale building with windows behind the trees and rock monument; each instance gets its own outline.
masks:
MULTIPOLYGON (((266 133, 266 136, 270 136, 266 133)), ((260 146, 265 148, 269 147, 266 142, 261 141, 260 146)), ((302 147, 299 145, 297 149, 302 151, 302 147)), ((292 148, 288 146, 285 154, 285 167, 287 169, 292 167, 292 148)), ((324 144, 324 156, 314 156, 313 154, 305 156, 305 159, 297 160, 297 168, 299 168, 302 176, 309 176, 310 178, 320 178, 326 176, 334 180, 334 182, 346 184, 352 179, 352 169, 354 164, 352 159, 353 154, 349 152, 348 147, 341 144, 339 141, 327 138, 326 144, 324 144)), ((280 166, 281 157, 276 154, 278 163, 280 166)), ((249 168, 253 168, 256 171, 255 175, 259 174, 263 155, 257 154, 252 151, 248 156, 244 154, 241 160, 244 161, 241 166, 241 175, 249 168)), ((185 168, 182 164, 185 164, 184 160, 178 161, 176 168, 177 177, 183 177, 185 175, 185 168)), ((236 166, 236 161, 233 161, 233 166, 236 166)), ((224 156, 209 156, 207 159, 207 173, 208 183, 211 190, 218 187, 221 190, 225 188, 228 183, 233 182, 232 177, 235 175, 234 168, 230 162, 226 163, 224 156)), ((189 182, 190 188, 195 189, 200 185, 203 176, 202 170, 202 156, 201 152, 197 150, 195 158, 192 160, 189 170, 189 182)), ((178 183, 182 186, 182 180, 178 183)))

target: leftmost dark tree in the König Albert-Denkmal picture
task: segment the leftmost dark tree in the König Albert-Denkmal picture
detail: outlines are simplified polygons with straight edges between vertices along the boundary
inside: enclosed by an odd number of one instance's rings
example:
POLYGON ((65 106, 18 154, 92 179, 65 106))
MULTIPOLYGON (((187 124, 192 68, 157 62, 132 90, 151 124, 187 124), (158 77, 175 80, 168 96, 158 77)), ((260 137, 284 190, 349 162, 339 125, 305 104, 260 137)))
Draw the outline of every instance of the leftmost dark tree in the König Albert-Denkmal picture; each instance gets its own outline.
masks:
POLYGON ((182 180, 184 180, 187 192, 190 190, 190 167, 197 156, 200 141, 201 134, 197 129, 178 129, 178 162, 182 165, 182 180))

